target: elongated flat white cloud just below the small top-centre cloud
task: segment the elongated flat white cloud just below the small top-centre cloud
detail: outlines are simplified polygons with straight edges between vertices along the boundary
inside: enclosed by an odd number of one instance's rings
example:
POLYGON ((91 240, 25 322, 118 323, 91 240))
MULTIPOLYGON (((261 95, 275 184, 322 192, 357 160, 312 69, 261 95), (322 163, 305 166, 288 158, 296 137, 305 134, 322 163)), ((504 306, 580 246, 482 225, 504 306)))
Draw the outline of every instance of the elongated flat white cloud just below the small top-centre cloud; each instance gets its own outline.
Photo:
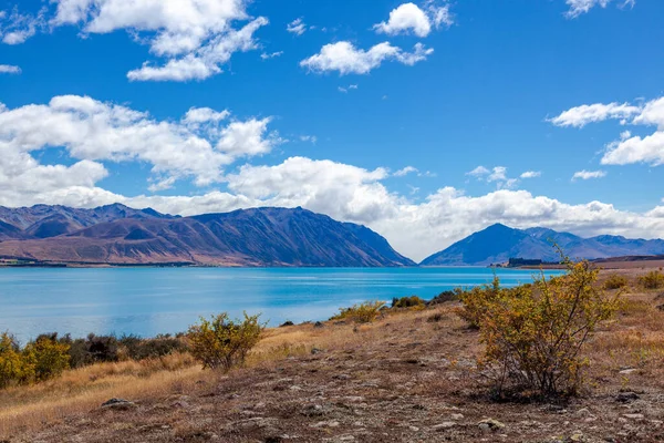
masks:
POLYGON ((404 52, 388 42, 378 43, 369 51, 356 49, 351 42, 341 41, 325 44, 321 52, 302 60, 300 65, 313 72, 339 71, 341 75, 367 74, 384 61, 397 61, 414 65, 426 60, 434 52, 422 43, 415 44, 413 52, 404 52))

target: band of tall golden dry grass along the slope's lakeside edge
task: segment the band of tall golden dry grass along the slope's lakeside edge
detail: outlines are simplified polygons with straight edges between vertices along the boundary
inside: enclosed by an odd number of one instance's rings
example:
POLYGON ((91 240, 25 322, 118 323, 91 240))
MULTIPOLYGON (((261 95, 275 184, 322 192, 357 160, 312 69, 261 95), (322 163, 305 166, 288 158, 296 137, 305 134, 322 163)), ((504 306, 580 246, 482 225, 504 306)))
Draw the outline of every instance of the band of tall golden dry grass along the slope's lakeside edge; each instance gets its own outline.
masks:
MULTIPOLYGON (((398 321, 409 323, 422 312, 404 312, 398 321)), ((273 367, 289 357, 310 354, 312 349, 343 349, 365 340, 377 340, 384 331, 376 324, 303 324, 268 329, 248 357, 247 367, 273 367)), ((62 377, 31 387, 0 391, 0 437, 39 429, 63 418, 98 408, 111 398, 155 399, 193 391, 200 381, 218 374, 203 371, 189 354, 174 354, 141 362, 100 363, 65 371, 62 377)))

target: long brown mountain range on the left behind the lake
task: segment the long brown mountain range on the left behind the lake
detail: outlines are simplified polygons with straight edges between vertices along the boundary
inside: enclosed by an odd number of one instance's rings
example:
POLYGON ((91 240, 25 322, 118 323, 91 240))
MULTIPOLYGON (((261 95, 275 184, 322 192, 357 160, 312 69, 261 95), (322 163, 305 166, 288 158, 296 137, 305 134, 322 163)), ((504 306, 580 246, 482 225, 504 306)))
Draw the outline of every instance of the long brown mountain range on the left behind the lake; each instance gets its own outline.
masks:
POLYGON ((120 204, 0 207, 0 257, 79 265, 415 266, 373 230, 302 208, 179 217, 120 204))

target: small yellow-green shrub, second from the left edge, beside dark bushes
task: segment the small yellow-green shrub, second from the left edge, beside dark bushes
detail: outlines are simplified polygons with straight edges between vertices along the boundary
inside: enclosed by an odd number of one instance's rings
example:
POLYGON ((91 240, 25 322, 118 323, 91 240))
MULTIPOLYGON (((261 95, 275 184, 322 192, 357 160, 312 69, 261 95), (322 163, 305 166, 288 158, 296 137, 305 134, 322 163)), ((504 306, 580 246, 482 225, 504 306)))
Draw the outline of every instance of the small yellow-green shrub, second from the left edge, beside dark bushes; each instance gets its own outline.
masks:
POLYGON ((42 334, 28 343, 23 350, 23 359, 34 368, 34 381, 53 379, 69 369, 69 344, 58 340, 58 333, 42 334))

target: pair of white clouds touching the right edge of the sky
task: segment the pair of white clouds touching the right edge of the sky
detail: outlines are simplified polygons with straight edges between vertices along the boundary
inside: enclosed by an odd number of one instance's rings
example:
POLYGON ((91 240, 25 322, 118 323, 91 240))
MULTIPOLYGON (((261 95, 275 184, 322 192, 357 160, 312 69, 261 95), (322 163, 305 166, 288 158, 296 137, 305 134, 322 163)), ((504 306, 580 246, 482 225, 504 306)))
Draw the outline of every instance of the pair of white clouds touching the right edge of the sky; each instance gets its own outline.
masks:
POLYGON ((622 131, 618 140, 606 145, 601 159, 603 165, 647 163, 658 166, 664 164, 664 97, 639 105, 627 103, 581 105, 563 112, 551 122, 559 126, 582 127, 588 123, 609 119, 618 119, 622 125, 656 126, 656 131, 646 136, 632 135, 631 131, 622 131))

